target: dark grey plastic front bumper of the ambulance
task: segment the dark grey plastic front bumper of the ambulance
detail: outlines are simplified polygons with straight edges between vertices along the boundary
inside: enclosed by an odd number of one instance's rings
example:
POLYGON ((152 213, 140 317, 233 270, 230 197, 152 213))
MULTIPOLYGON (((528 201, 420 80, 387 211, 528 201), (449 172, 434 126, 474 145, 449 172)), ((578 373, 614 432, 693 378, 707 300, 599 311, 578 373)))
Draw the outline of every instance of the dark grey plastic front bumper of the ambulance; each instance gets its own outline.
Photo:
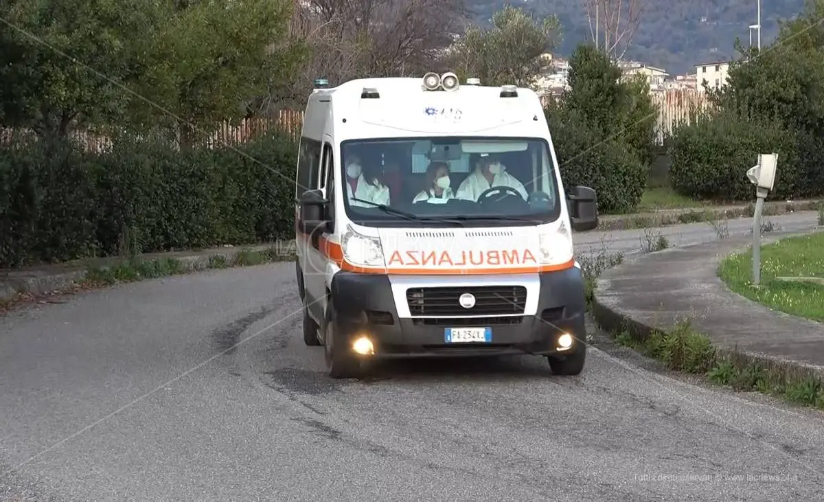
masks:
MULTIPOLYGON (((444 276, 438 281, 447 285, 444 276)), ((537 308, 530 315, 484 317, 399 317, 409 308, 396 306, 391 278, 382 274, 339 272, 332 279, 332 301, 338 333, 354 340, 368 336, 375 357, 461 357, 508 354, 569 354, 585 350, 585 300, 583 277, 577 268, 540 274, 537 308), (480 342, 447 340, 466 327, 485 328, 480 342), (560 335, 572 335, 575 343, 558 350, 560 335)), ((400 301, 400 300, 398 300, 400 301)), ((479 312, 483 313, 483 312, 479 312)))

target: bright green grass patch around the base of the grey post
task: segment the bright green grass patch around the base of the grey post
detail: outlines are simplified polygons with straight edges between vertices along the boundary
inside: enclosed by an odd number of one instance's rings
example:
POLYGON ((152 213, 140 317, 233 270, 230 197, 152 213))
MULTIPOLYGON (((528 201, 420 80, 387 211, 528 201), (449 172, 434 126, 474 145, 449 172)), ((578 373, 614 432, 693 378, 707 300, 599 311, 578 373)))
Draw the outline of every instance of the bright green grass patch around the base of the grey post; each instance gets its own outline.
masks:
POLYGON ((824 321, 824 232, 762 246, 758 286, 751 282, 751 249, 724 259, 719 277, 729 289, 767 307, 824 321))

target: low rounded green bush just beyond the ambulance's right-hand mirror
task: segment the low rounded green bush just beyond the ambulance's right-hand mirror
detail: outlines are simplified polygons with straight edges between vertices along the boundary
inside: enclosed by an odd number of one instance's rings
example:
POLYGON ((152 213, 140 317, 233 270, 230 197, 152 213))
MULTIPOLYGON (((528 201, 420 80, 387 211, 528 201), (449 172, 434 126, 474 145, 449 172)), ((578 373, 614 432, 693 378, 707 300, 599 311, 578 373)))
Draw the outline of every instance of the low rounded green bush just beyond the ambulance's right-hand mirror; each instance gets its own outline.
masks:
POLYGON ((585 185, 596 190, 601 213, 631 213, 647 187, 648 167, 629 144, 602 138, 574 112, 546 110, 564 187, 585 185))

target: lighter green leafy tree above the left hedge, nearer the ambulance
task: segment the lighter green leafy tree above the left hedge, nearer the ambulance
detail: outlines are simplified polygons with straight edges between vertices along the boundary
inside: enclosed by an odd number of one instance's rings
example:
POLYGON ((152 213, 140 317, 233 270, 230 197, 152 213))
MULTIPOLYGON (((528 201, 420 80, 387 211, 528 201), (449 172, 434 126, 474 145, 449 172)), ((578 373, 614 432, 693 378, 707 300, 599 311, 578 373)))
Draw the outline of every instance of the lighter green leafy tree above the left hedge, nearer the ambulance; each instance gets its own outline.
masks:
POLYGON ((166 124, 190 147, 222 120, 288 81, 307 55, 290 35, 291 0, 177 2, 157 36, 143 42, 147 72, 135 87, 132 118, 166 124), (151 101, 151 105, 149 104, 151 101))

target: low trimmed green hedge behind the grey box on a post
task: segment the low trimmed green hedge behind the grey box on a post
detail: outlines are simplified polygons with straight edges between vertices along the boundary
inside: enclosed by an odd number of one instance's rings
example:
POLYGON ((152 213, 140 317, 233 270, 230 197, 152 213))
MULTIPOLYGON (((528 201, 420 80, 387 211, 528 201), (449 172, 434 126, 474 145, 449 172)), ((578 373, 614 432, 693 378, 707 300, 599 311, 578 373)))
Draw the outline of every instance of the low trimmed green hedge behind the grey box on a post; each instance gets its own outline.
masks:
POLYGON ((672 187, 694 199, 753 199, 747 169, 756 165, 759 153, 770 152, 778 153, 770 199, 824 195, 824 140, 774 123, 744 120, 732 113, 706 115, 677 128, 669 152, 672 187))

